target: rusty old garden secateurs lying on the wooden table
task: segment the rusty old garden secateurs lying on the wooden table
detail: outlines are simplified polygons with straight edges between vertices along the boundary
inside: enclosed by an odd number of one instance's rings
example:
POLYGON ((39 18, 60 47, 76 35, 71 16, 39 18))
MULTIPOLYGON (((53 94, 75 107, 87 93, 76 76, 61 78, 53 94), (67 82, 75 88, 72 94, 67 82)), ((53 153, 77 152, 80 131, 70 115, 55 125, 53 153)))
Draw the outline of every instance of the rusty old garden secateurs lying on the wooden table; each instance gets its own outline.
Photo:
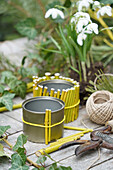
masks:
POLYGON ((111 133, 113 133, 112 127, 110 125, 107 125, 102 129, 98 129, 91 132, 90 134, 91 140, 75 140, 72 142, 65 143, 64 145, 60 146, 59 149, 66 148, 71 145, 80 145, 75 149, 76 156, 85 151, 95 149, 98 147, 113 150, 113 138, 109 136, 109 134, 111 133))

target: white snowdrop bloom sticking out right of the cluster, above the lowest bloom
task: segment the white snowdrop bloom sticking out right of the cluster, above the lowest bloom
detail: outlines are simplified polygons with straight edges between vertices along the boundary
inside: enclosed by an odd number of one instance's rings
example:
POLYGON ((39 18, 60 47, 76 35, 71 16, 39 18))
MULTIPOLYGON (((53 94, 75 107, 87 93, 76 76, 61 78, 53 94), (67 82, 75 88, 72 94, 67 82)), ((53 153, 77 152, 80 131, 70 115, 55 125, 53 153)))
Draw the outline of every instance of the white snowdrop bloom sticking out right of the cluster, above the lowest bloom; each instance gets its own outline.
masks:
POLYGON ((96 23, 91 23, 84 28, 84 33, 92 34, 93 32, 98 34, 98 25, 96 23))

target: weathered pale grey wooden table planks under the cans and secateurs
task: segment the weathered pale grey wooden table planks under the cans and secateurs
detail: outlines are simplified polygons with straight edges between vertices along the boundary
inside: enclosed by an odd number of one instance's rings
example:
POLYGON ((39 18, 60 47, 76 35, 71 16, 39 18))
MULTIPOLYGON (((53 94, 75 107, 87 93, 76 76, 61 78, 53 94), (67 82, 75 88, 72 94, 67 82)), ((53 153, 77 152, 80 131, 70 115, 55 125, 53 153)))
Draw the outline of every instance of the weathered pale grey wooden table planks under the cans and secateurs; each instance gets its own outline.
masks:
MULTIPOLYGON (((32 97, 32 93, 28 94, 26 99, 32 97)), ((19 97, 14 99, 14 103, 21 103, 23 102, 22 99, 19 97)), ((10 125, 11 128, 7 131, 8 133, 8 141, 14 145, 17 137, 23 133, 23 123, 21 120, 22 116, 22 109, 16 109, 11 112, 3 112, 0 113, 0 126, 6 126, 10 125)), ((88 128, 98 128, 100 127, 97 124, 92 123, 88 115, 86 113, 85 107, 79 108, 79 117, 74 122, 68 123, 66 125, 68 126, 75 126, 75 127, 83 127, 83 122, 85 125, 88 126, 88 128)), ((74 130, 64 130, 64 137, 69 136, 71 134, 77 133, 77 131, 74 130)), ((89 133, 85 134, 81 139, 90 139, 89 133)), ((4 142, 1 142, 3 145, 6 146, 4 142)), ((49 146, 49 145, 48 145, 49 146)), ((35 152, 41 148, 47 147, 45 144, 39 144, 39 143, 32 143, 27 142, 25 144, 25 147, 27 149, 27 157, 34 162, 36 162, 37 157, 35 155, 35 152)), ((87 153, 84 153, 78 157, 75 156, 75 148, 77 146, 70 146, 66 149, 59 150, 56 152, 53 152, 50 154, 50 156, 59 162, 60 165, 64 166, 71 166, 73 170, 86 170, 92 163, 98 158, 98 150, 91 150, 87 153)), ((5 149, 7 153, 10 155, 13 153, 12 151, 9 151, 5 149)), ((48 158, 46 163, 46 169, 49 169, 49 165, 51 165, 53 162, 48 158)), ((11 167, 10 161, 2 157, 0 158, 0 170, 8 170, 11 167)), ((32 169, 33 166, 31 166, 30 169, 32 169)), ((100 159, 96 161, 96 163, 93 164, 93 166, 90 168, 91 170, 111 170, 113 169, 113 151, 107 150, 104 148, 100 149, 100 159)))

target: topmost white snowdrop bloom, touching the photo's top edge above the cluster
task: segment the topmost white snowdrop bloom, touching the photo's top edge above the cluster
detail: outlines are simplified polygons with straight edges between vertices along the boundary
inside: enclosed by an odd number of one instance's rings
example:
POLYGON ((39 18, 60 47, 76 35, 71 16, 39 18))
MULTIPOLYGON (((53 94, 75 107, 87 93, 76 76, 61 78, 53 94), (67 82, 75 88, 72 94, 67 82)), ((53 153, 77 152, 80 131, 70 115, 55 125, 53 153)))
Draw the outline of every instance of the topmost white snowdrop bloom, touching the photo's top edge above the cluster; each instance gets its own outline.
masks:
POLYGON ((77 2, 78 11, 82 11, 84 8, 87 10, 90 6, 90 3, 93 3, 92 0, 81 0, 77 2))

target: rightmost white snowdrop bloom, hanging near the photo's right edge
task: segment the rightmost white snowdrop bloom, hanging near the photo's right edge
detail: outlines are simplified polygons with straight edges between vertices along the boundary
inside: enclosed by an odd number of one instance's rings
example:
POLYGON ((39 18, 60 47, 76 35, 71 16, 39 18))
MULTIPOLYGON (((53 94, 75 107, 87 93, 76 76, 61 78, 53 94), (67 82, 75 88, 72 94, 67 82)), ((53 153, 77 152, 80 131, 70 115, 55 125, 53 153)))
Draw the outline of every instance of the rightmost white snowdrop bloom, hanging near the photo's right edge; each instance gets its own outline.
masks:
POLYGON ((110 6, 104 6, 102 8, 100 8, 97 12, 97 18, 101 16, 104 16, 105 14, 107 14, 108 16, 112 16, 112 8, 110 6))

